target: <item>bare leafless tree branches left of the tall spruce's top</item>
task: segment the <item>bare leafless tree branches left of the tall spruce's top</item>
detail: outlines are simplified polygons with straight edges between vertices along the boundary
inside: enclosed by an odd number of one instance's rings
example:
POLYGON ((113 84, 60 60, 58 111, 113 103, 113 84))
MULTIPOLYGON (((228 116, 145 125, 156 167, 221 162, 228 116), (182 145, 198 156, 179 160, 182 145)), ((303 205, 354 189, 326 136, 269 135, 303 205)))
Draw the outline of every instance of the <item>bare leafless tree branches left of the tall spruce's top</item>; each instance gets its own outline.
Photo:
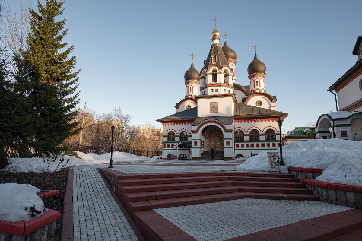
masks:
MULTIPOLYGON (((14 55, 20 58, 21 51, 28 48, 26 37, 29 31, 29 2, 20 1, 20 8, 12 10, 8 0, 4 8, 4 21, 0 24, 2 47, 7 47, 7 57, 14 55)), ((12 67, 16 70, 14 63, 12 67)))

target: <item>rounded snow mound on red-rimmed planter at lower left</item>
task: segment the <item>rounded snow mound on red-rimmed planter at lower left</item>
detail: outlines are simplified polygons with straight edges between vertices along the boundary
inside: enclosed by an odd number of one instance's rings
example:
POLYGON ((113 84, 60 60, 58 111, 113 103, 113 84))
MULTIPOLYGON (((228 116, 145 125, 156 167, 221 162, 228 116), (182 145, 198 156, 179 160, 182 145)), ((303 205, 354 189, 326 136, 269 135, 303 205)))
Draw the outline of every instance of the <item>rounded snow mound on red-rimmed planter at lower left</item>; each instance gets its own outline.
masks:
POLYGON ((45 214, 40 190, 30 184, 0 184, 0 220, 6 222, 29 221, 45 214))

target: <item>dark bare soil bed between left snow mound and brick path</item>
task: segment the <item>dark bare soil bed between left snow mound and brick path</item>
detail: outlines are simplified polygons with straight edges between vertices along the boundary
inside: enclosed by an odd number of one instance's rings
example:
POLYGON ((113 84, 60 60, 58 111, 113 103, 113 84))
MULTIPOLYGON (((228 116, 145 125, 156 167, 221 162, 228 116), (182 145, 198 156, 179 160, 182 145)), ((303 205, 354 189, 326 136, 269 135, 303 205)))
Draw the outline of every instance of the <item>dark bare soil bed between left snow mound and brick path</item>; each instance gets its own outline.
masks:
POLYGON ((63 220, 63 199, 66 194, 68 178, 68 168, 60 169, 56 173, 50 173, 45 176, 43 173, 12 173, 0 172, 0 183, 18 183, 31 184, 41 191, 59 190, 60 194, 55 196, 53 200, 45 203, 46 208, 59 211, 62 216, 56 221, 55 240, 60 240, 60 231, 63 220), (45 178, 47 178, 45 183, 45 178))

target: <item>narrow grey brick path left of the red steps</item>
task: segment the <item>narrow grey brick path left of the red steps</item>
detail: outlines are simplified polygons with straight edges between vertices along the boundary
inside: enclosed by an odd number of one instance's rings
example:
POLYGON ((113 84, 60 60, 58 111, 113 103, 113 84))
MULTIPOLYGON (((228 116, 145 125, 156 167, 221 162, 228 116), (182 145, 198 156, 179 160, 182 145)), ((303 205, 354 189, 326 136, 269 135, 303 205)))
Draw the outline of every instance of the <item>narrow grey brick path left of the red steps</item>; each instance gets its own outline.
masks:
POLYGON ((74 169, 74 240, 138 241, 95 168, 74 169))

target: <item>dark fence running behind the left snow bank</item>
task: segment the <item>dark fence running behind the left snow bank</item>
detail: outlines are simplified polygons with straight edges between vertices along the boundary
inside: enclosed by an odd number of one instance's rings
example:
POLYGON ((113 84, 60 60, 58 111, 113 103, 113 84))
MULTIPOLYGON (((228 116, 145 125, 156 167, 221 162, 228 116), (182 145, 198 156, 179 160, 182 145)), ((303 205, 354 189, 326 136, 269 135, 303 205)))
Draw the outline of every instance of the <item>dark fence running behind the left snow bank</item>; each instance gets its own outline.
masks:
MULTIPOLYGON (((91 147, 86 145, 70 145, 70 144, 60 144, 59 147, 61 147, 64 151, 65 150, 75 150, 83 153, 96 153, 97 155, 101 155, 103 153, 109 153, 111 152, 110 147, 91 147)), ((20 153, 18 150, 5 146, 5 157, 6 158, 12 158, 12 157, 19 157, 24 156, 24 153, 20 153)), ((127 152, 134 154, 136 156, 146 156, 146 157, 153 157, 153 156, 160 156, 162 155, 161 151, 148 151, 148 150, 136 150, 136 149, 121 149, 121 148, 113 148, 114 152, 127 152)), ((26 152, 26 155, 28 157, 42 157, 44 156, 44 153, 39 152, 37 149, 33 147, 28 148, 28 152, 26 152)))

